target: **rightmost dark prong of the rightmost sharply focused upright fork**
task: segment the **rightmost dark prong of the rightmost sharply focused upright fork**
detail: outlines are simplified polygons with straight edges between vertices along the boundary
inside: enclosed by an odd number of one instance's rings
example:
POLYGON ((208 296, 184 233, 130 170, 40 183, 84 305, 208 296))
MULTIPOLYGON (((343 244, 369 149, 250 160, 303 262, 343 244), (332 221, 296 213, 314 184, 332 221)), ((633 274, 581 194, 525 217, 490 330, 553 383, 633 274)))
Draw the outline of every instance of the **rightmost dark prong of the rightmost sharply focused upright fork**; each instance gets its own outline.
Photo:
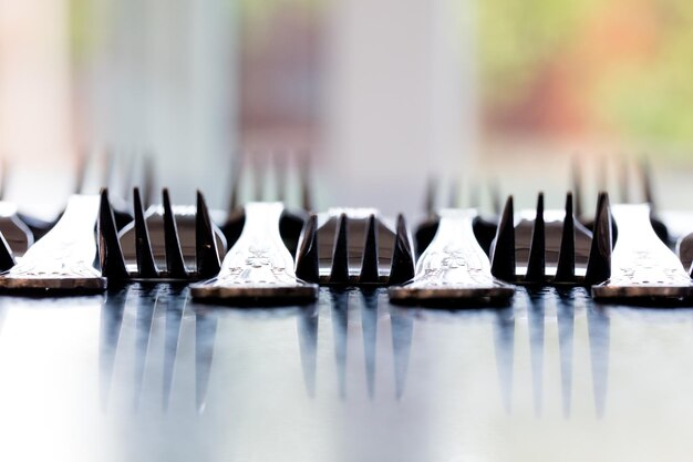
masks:
POLYGON ((600 193, 594 215, 592 230, 592 246, 587 263, 585 283, 594 285, 603 283, 611 276, 611 251, 613 248, 611 235, 611 213, 609 209, 609 194, 600 193))

